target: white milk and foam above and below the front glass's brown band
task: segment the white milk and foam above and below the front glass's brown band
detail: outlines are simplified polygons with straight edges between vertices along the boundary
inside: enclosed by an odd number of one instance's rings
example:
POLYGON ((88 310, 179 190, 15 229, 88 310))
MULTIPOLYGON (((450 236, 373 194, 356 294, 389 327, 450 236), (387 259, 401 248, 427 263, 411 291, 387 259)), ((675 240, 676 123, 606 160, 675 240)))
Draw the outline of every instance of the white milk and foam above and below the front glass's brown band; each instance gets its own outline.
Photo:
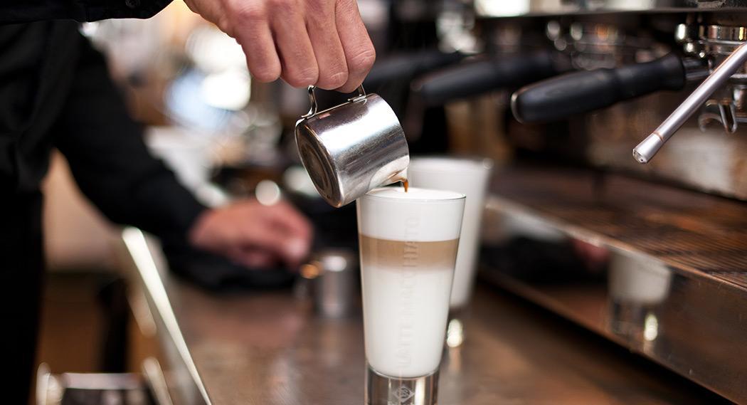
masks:
MULTIPOLYGON (((462 194, 379 188, 356 204, 359 232, 369 238, 403 242, 459 238, 462 194)), ((454 262, 429 266, 424 265, 427 257, 411 256, 403 257, 401 266, 373 266, 366 261, 362 258, 361 270, 369 364, 391 377, 421 377, 436 371, 446 334, 454 262)))

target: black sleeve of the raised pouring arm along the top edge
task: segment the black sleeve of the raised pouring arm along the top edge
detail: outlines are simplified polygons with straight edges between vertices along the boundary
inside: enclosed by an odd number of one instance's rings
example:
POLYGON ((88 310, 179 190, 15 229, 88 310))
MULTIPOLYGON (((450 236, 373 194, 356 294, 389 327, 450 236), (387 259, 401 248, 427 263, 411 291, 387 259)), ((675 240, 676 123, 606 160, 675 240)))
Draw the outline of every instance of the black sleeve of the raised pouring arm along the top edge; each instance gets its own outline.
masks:
POLYGON ((112 18, 150 18, 171 0, 3 0, 0 23, 46 19, 79 22, 112 18))

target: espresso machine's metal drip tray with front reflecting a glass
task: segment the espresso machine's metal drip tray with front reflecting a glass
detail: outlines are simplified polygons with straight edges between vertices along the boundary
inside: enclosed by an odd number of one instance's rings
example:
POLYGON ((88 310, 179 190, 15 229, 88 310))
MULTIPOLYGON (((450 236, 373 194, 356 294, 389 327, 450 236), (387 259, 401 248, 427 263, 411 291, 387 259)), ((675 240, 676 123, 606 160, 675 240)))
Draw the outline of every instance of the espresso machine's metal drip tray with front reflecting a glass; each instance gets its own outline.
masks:
POLYGON ((747 205, 590 171, 510 169, 483 279, 747 402, 747 205))

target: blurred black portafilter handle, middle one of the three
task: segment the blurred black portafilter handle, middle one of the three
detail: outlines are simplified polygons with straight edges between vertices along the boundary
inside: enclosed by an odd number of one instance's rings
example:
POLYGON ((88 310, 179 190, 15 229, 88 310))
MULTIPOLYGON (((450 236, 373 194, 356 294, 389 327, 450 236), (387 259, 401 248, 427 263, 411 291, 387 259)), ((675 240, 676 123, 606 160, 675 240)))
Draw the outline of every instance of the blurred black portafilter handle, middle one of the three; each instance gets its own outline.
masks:
POLYGON ((537 51, 506 58, 469 61, 424 75, 412 83, 413 96, 426 106, 444 105, 455 99, 492 90, 516 88, 568 70, 565 57, 537 51))

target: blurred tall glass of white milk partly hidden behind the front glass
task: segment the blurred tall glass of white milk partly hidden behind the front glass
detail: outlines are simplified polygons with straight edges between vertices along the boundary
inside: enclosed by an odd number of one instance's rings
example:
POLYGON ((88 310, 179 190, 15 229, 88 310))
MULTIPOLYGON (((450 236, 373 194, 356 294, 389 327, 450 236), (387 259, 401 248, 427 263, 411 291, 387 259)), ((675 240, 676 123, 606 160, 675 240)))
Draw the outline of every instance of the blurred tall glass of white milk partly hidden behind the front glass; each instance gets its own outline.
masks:
POLYGON ((490 159, 421 157, 412 158, 407 169, 407 177, 413 187, 456 191, 467 197, 451 290, 446 336, 446 344, 449 347, 459 346, 464 341, 462 316, 469 303, 477 273, 480 223, 492 168, 493 162, 490 159))

